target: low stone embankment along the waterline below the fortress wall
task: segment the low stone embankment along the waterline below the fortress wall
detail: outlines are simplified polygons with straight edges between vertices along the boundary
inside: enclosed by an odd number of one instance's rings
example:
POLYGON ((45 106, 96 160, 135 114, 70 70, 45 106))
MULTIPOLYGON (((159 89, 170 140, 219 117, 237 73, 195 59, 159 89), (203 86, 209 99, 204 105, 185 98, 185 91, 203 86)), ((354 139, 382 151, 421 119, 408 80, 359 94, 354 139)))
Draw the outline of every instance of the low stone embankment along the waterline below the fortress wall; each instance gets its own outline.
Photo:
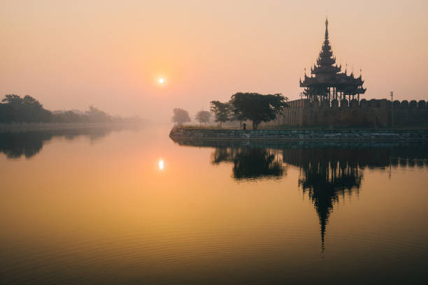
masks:
POLYGON ((428 140, 428 130, 404 129, 295 129, 227 130, 185 129, 174 126, 169 137, 174 140, 428 140))

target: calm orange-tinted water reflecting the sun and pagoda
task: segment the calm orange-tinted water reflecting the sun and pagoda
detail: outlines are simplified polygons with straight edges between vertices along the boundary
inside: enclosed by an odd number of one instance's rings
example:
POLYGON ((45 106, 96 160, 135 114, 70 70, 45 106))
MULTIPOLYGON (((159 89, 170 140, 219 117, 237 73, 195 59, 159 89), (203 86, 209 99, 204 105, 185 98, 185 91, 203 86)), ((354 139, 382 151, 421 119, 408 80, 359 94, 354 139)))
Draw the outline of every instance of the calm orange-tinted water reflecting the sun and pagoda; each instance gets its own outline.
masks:
POLYGON ((427 145, 168 133, 1 133, 0 283, 427 283, 427 145))

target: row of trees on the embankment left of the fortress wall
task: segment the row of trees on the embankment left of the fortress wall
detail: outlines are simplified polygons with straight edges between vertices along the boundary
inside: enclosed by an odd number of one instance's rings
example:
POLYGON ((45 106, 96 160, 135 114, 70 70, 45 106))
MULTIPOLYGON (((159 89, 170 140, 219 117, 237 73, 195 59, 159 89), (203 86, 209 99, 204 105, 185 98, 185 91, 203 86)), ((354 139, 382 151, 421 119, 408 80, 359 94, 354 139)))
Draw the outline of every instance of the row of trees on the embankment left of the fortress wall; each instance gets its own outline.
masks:
MULTIPOLYGON (((257 129, 262 122, 269 122, 282 115, 288 98, 282 94, 258 94, 249 92, 238 92, 231 96, 227 102, 211 101, 211 112, 215 122, 220 123, 220 128, 224 122, 250 120, 252 129, 257 129)), ((197 112, 196 119, 200 123, 209 122, 211 113, 207 111, 197 112)), ((181 108, 174 108, 172 121, 178 124, 190 122, 189 113, 181 108)))

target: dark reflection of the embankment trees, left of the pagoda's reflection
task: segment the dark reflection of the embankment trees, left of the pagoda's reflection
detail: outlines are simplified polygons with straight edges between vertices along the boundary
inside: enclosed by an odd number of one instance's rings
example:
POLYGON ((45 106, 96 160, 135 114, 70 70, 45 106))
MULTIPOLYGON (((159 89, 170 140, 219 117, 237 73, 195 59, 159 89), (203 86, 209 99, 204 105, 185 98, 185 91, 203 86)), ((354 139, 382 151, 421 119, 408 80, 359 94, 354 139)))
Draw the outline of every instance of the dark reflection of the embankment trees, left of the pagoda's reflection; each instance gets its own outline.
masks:
POLYGON ((233 162, 236 180, 250 178, 281 177, 283 163, 278 159, 278 151, 257 147, 217 147, 211 154, 211 162, 233 162))

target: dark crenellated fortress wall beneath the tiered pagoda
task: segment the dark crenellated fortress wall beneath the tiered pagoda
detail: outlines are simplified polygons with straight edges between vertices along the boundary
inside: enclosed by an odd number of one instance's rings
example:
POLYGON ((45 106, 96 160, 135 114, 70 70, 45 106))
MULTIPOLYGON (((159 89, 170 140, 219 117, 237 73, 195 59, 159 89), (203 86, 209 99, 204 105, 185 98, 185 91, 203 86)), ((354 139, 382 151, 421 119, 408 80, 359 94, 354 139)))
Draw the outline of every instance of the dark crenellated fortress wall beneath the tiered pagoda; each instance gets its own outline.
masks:
POLYGON ((313 101, 307 99, 290 101, 290 108, 280 117, 280 122, 288 126, 428 126, 427 102, 336 100, 313 101), (391 108, 392 104, 392 108, 391 108))

